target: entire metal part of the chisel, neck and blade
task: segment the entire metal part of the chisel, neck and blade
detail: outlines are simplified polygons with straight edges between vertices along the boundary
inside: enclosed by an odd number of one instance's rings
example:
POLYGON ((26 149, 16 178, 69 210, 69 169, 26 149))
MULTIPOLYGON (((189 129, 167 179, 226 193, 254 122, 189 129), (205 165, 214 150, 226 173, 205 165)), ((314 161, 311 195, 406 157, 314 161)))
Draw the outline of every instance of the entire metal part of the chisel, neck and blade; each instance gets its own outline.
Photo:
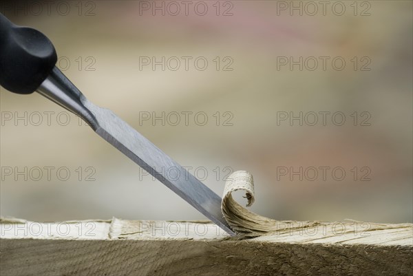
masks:
POLYGON ((235 235, 222 215, 220 196, 109 109, 89 102, 57 67, 54 67, 37 92, 83 118, 96 134, 151 173, 221 229, 235 235), (171 177, 167 173, 169 169, 177 171, 179 177, 171 177))

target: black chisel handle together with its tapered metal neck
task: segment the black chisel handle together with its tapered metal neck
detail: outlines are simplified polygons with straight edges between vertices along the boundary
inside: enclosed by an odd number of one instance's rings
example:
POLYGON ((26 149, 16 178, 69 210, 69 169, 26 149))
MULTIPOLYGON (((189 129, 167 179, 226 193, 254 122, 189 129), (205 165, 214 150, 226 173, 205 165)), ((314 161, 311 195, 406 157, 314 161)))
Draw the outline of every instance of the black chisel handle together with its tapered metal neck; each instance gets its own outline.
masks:
POLYGON ((56 61, 56 50, 44 34, 14 25, 0 13, 0 85, 17 94, 39 92, 96 129, 85 96, 55 66, 56 61))

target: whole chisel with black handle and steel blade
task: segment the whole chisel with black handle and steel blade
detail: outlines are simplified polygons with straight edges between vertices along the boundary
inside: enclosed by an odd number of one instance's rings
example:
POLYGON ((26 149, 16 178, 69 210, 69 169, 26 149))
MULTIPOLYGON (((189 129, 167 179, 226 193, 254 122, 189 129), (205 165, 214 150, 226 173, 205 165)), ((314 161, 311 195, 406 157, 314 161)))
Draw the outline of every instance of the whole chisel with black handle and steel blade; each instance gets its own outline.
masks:
POLYGON ((151 173, 230 235, 221 198, 109 109, 97 107, 56 67, 54 46, 41 32, 0 14, 0 84, 10 92, 39 92, 80 116, 103 139, 151 173), (177 172, 170 176, 169 169, 177 172))

